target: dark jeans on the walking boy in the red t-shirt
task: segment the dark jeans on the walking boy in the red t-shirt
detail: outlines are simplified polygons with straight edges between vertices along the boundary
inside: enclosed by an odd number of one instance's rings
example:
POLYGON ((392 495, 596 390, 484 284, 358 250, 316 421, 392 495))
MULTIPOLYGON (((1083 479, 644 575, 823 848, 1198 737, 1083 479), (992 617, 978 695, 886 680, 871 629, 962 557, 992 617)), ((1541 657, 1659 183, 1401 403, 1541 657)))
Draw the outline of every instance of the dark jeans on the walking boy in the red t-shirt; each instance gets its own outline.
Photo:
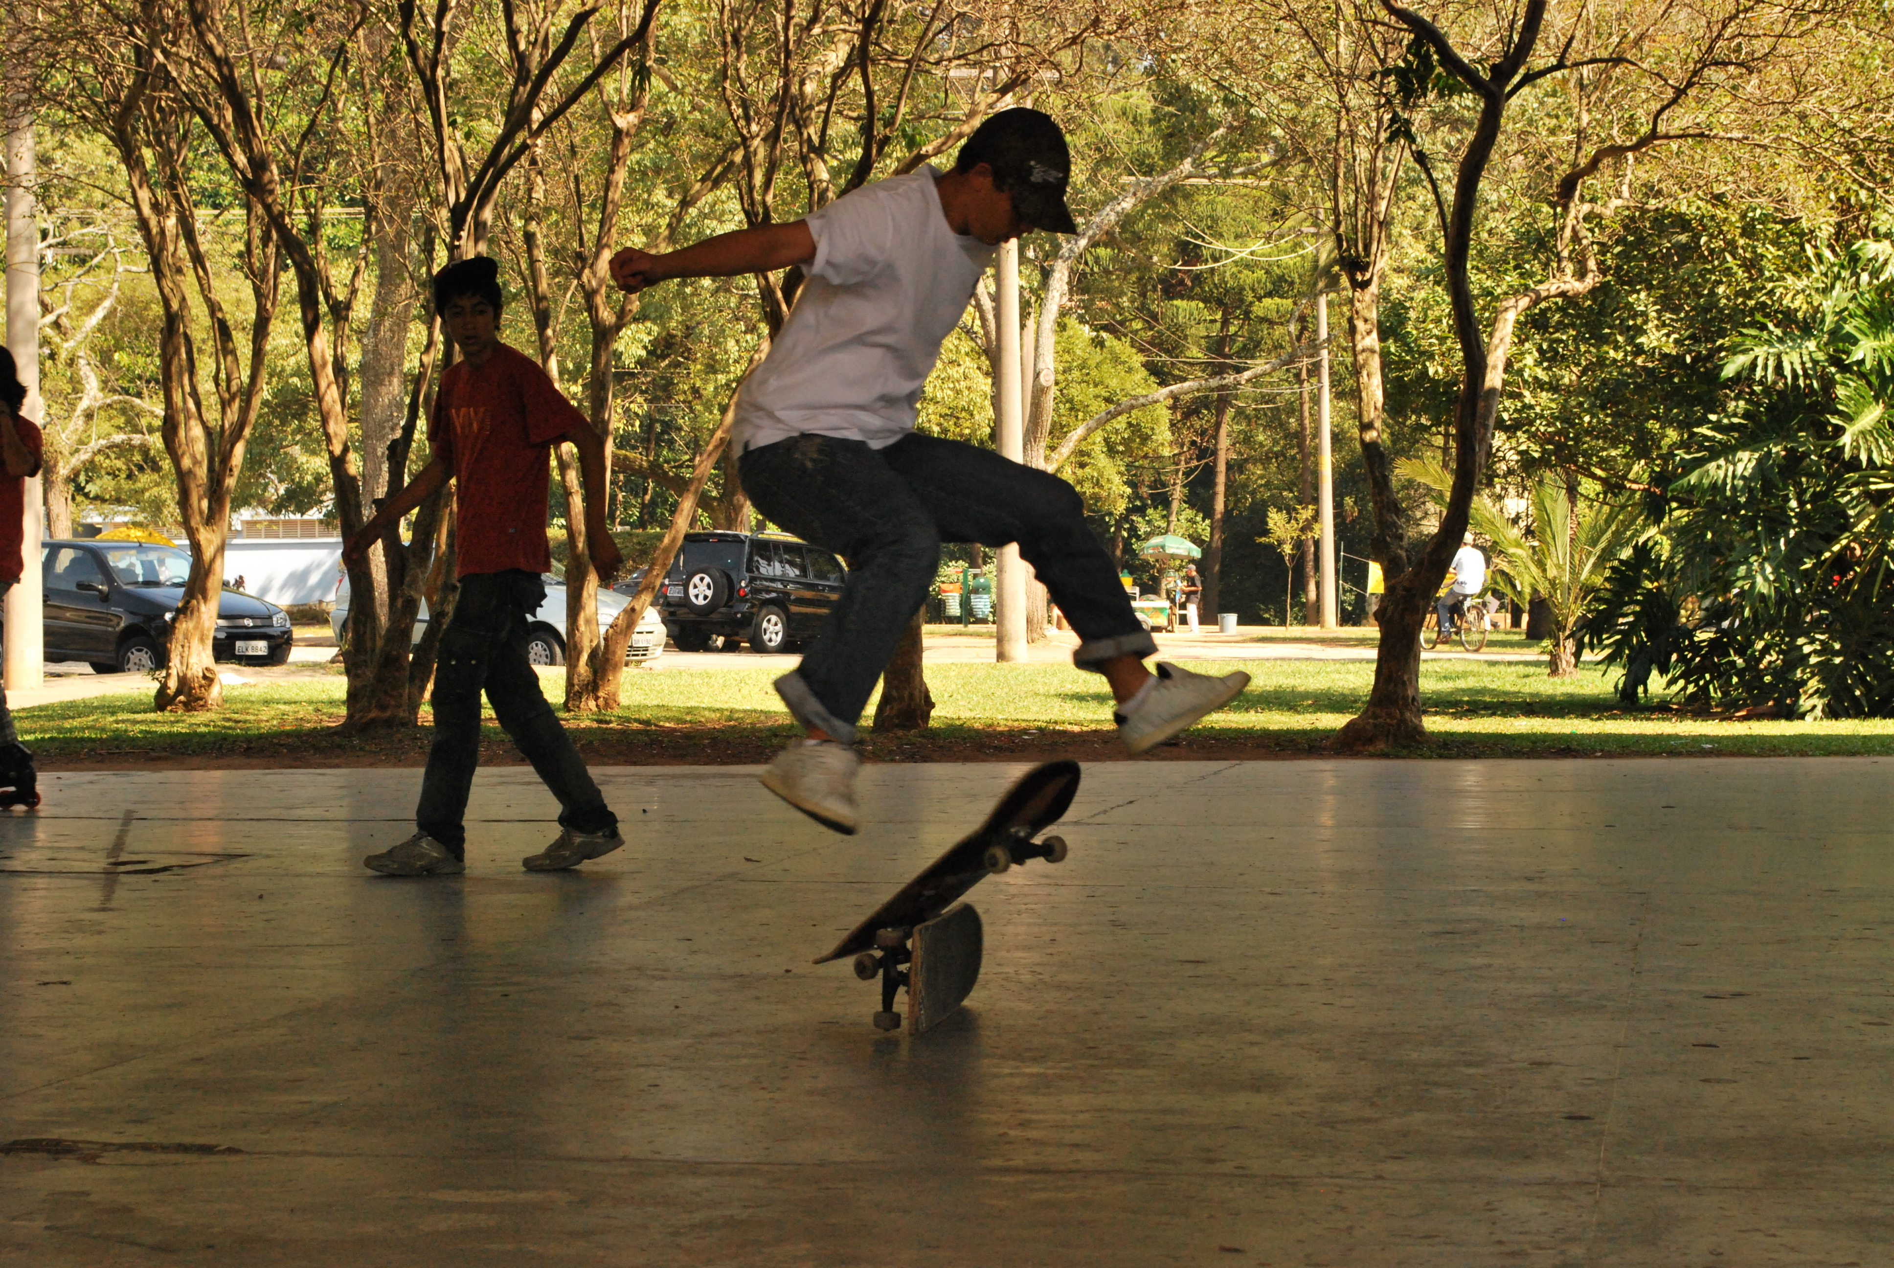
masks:
POLYGON ((527 616, 545 603, 536 572, 474 572, 460 578, 460 597, 441 633, 434 667, 434 749, 420 779, 415 824, 436 842, 466 855, 460 819, 479 766, 479 694, 494 716, 559 798, 559 824, 574 832, 610 832, 617 815, 585 770, 585 760, 553 716, 540 675, 527 660, 527 616))

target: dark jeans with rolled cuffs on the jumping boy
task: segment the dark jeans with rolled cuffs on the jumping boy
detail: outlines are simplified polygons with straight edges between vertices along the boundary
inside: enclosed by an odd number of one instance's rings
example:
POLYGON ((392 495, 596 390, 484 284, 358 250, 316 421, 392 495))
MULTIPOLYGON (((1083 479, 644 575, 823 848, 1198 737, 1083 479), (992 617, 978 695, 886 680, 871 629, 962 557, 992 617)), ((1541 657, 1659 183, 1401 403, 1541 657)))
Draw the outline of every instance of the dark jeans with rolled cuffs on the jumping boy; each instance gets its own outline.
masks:
POLYGON ((1057 476, 919 434, 886 449, 795 436, 750 449, 737 472, 773 523, 849 561, 841 603, 797 671, 777 680, 803 726, 854 741, 875 680, 928 597, 941 542, 1017 542, 1078 631, 1072 660, 1081 669, 1157 650, 1085 523, 1085 504, 1057 476))

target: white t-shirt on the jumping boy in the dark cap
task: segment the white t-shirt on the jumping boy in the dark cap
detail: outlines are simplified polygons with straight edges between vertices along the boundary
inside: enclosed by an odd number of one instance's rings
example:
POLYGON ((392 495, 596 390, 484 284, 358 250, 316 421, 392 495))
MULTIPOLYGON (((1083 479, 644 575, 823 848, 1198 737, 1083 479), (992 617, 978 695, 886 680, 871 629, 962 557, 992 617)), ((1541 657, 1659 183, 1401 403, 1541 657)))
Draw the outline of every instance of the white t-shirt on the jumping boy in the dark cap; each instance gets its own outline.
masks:
POLYGON ((994 248, 947 226, 936 171, 847 193, 809 216, 816 258, 777 345, 737 394, 737 451, 790 436, 884 449, 915 426, 941 341, 994 248))

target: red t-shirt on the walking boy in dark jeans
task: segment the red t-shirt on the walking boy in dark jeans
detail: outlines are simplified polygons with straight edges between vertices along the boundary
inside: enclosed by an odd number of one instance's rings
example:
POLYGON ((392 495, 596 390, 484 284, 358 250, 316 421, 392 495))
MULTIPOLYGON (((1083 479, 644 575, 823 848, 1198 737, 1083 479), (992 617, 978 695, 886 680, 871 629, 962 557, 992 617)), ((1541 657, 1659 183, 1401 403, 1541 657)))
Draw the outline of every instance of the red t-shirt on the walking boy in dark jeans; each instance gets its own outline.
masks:
POLYGON ((525 569, 545 572, 545 451, 574 426, 591 426, 538 362, 508 345, 477 370, 455 362, 428 444, 455 474, 460 516, 456 576, 525 569))

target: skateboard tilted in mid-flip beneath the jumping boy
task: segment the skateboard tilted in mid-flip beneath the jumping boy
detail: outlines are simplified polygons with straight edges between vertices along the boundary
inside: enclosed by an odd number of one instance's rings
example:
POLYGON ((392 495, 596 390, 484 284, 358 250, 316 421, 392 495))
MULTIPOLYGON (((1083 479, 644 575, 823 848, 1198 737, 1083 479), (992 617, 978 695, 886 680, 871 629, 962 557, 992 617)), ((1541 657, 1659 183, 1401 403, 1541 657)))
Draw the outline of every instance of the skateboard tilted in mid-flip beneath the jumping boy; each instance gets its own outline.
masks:
POLYGON ((875 1029, 900 1029, 894 995, 902 987, 907 987, 907 1020, 917 1035, 938 1025, 974 991, 983 931, 979 912, 960 897, 1028 859, 1064 862, 1064 838, 1034 838, 1072 806, 1078 779, 1078 762, 1047 762, 1021 775, 979 828, 902 885, 833 951, 816 959, 826 965, 854 955, 854 976, 864 982, 881 978, 875 1029))

